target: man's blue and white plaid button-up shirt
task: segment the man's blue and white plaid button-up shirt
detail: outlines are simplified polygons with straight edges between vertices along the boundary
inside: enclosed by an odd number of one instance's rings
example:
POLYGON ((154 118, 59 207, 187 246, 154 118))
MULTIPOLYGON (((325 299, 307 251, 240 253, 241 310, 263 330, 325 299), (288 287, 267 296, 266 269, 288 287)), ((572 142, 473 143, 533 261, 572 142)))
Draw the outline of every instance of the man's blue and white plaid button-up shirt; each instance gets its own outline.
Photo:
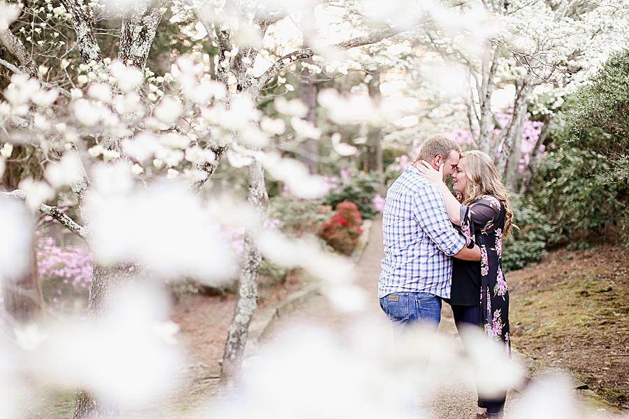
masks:
POLYGON ((452 260, 465 246, 439 190, 408 166, 388 191, 382 220, 384 259, 378 297, 431 293, 450 297, 452 260))

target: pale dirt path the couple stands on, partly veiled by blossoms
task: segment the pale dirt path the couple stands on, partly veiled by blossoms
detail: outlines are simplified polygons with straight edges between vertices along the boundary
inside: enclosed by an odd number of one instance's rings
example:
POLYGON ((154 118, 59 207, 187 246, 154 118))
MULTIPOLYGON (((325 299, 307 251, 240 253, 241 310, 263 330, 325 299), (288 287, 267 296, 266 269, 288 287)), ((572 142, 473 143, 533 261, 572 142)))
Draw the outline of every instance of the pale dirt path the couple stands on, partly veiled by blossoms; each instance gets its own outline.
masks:
MULTIPOLYGON (((377 281, 380 272, 380 260, 382 260, 382 219, 375 219, 373 227, 370 232, 370 238, 368 245, 363 253, 363 256, 356 265, 356 278, 358 285, 368 293, 370 300, 368 300, 368 307, 366 312, 361 314, 364 318, 368 316, 369 321, 378 321, 382 323, 389 323, 388 318, 382 313, 377 300, 377 281)), ((342 335, 347 332, 346 328, 353 318, 348 318, 347 314, 335 311, 326 297, 317 295, 311 300, 306 302, 303 307, 289 314, 288 316, 281 318, 273 325, 273 330, 268 335, 268 340, 273 341, 282 337, 283 333, 290 330, 295 325, 318 325, 328 330, 332 330, 337 335, 342 335)), ((388 324, 387 324, 388 326, 388 324)), ((454 337, 456 334, 456 328, 451 316, 449 306, 445 304, 442 310, 442 322, 440 324, 440 332, 444 335, 454 337)), ((391 335, 386 336, 386 339, 392 339, 391 335)), ((451 339, 452 345, 458 345, 457 339, 451 339)), ((434 368, 433 368, 434 369, 434 368)), ((440 374, 441 376, 448 376, 449 371, 434 371, 429 367, 428 374, 440 374)), ((452 386, 450 386, 452 387, 452 386)), ((456 394, 452 394, 451 390, 448 391, 445 386, 438 388, 438 396, 436 400, 433 399, 429 410, 431 411, 431 418, 434 419, 464 419, 472 418, 475 413, 476 395, 473 388, 465 388, 464 385, 457 383, 454 386, 456 388, 456 394)), ((514 396, 517 394, 509 395, 509 402, 512 402, 514 396)))

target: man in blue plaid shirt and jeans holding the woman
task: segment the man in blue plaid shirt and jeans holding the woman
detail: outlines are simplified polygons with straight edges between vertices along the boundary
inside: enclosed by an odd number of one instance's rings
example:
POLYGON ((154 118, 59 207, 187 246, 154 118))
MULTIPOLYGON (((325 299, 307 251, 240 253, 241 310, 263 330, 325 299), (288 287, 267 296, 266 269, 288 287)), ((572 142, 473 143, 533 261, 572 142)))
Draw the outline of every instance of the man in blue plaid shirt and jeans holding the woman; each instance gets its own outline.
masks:
MULTIPOLYGON (((426 140, 417 161, 425 160, 444 180, 461 158, 461 148, 444 135, 426 140)), ((382 220, 384 259, 378 281, 380 307, 394 325, 422 323, 437 328, 442 298, 449 298, 451 256, 480 260, 480 249, 465 247, 465 239, 450 223, 438 189, 407 166, 388 191, 382 220)))

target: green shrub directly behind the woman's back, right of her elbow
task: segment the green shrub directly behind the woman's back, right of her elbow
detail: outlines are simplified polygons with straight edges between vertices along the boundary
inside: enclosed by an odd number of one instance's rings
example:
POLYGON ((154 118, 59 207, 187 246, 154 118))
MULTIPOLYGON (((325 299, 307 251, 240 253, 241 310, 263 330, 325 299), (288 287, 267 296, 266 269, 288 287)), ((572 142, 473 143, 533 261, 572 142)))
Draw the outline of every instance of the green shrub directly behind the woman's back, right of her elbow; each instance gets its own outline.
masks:
POLYGON ((546 216, 529 200, 512 196, 514 228, 512 237, 505 240, 503 269, 517 270, 537 262, 546 255, 546 244, 551 234, 546 216))

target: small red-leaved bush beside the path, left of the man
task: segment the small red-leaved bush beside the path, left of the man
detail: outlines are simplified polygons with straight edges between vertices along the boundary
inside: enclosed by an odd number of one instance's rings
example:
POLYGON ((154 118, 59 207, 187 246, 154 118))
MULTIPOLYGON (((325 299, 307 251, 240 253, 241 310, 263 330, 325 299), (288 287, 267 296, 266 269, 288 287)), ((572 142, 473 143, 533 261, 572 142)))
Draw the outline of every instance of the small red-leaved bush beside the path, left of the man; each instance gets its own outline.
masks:
POLYGON ((344 255, 351 255, 363 229, 363 218, 356 204, 343 201, 336 206, 332 218, 321 223, 319 237, 325 240, 335 251, 344 255))

